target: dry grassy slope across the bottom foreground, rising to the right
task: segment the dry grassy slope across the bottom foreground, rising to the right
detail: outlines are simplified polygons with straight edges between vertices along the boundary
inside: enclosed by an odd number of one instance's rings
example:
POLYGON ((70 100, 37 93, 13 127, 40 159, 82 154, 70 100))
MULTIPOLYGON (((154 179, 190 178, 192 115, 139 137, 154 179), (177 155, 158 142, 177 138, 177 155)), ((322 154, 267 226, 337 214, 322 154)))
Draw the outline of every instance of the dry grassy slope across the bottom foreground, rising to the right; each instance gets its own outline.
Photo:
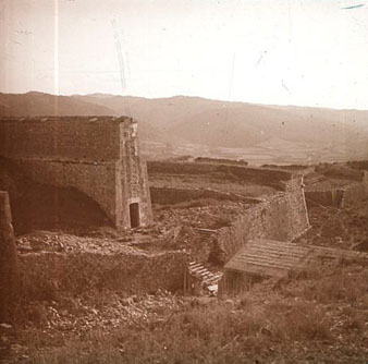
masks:
MULTIPOLYGON (((23 363, 364 363, 368 352, 368 270, 340 265, 318 276, 292 275, 282 284, 262 281, 237 298, 175 299, 154 316, 110 328, 95 325, 83 335, 24 331, 23 363), (27 333, 28 332, 28 333, 27 333), (57 338, 54 338, 54 336, 57 338), (62 338, 62 340, 60 340, 62 338)), ((84 311, 114 307, 119 295, 103 295, 84 311), (99 302, 99 303, 98 303, 99 302)), ((124 299, 128 312, 139 298, 124 299)), ((59 312, 81 315, 75 299, 60 301, 59 312), (73 310, 72 310, 73 308, 73 310)), ((138 308, 139 310, 139 308, 138 308)), ((50 308, 30 305, 26 315, 45 327, 50 308)), ((134 317, 134 315, 132 316, 134 317)), ((145 318, 146 317, 146 318, 145 318)), ((41 330, 41 329, 40 329, 41 330)), ((44 331, 46 332, 46 331, 44 331)))

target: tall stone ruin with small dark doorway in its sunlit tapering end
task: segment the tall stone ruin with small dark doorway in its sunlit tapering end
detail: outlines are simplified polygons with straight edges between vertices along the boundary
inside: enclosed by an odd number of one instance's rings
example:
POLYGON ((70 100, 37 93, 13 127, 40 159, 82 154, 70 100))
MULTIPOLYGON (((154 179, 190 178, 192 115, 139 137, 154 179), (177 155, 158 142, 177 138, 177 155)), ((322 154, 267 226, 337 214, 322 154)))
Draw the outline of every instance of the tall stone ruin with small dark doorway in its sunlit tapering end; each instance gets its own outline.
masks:
POLYGON ((35 182, 86 194, 118 228, 152 219, 137 123, 131 118, 2 118, 0 156, 35 182))

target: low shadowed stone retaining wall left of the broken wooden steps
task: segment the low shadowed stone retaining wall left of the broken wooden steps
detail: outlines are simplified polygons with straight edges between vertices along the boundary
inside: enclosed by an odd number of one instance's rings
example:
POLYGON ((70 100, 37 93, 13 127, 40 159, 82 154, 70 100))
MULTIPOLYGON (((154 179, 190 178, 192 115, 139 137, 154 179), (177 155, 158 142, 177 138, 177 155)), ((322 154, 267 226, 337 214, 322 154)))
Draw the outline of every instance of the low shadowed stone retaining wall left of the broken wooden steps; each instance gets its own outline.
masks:
POLYGON ((126 294, 183 289, 187 255, 95 253, 32 253, 20 255, 23 294, 29 300, 53 300, 105 289, 126 294))

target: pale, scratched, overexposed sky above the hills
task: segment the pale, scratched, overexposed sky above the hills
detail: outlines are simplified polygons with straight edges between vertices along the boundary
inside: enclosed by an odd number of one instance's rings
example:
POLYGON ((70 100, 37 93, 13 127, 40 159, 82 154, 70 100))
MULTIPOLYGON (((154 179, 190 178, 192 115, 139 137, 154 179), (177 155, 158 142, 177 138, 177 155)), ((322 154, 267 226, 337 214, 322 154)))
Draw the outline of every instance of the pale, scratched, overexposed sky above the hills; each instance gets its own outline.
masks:
POLYGON ((0 92, 368 109, 368 3, 0 0, 0 92))

